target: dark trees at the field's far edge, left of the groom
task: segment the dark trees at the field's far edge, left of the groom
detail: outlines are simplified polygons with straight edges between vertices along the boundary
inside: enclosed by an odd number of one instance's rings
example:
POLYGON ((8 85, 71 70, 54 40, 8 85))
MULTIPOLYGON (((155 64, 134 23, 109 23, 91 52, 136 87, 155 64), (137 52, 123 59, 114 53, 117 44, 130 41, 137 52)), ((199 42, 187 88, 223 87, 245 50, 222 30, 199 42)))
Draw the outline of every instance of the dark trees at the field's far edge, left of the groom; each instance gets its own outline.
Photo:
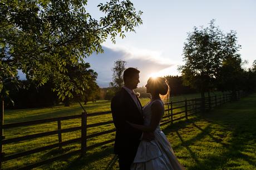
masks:
POLYGON ((90 88, 84 91, 82 95, 75 95, 73 98, 66 97, 64 101, 60 99, 56 91, 52 91, 55 85, 51 82, 47 82, 42 86, 36 86, 29 80, 19 80, 18 82, 19 86, 23 88, 16 89, 14 84, 11 83, 6 86, 9 92, 8 98, 4 103, 6 108, 52 107, 58 104, 70 106, 72 102, 80 101, 86 104, 89 101, 95 102, 101 98, 100 88, 96 82, 91 82, 90 88))

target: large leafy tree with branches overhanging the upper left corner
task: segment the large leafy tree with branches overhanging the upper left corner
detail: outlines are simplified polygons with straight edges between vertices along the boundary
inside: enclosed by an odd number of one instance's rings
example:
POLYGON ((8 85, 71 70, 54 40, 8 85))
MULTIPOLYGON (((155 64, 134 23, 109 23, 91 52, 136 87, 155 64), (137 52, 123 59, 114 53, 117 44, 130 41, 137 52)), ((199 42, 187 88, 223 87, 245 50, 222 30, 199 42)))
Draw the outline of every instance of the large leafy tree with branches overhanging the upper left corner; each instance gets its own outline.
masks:
POLYGON ((101 44, 108 36, 115 43, 117 35, 124 38, 124 32, 135 32, 142 23, 142 12, 136 12, 129 0, 100 3, 105 16, 99 21, 87 13, 86 0, 3 0, 0 6, 0 91, 3 72, 15 77, 21 69, 39 85, 52 79, 62 99, 87 87, 70 81, 67 66, 103 52, 101 44))

